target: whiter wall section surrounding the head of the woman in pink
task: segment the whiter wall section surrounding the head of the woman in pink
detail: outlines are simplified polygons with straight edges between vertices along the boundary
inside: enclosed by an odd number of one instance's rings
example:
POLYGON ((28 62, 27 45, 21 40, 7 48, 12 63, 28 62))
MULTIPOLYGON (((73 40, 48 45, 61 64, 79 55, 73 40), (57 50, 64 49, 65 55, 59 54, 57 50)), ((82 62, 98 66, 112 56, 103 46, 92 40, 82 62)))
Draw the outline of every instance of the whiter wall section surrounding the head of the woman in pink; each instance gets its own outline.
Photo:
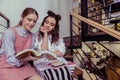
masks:
POLYGON ((33 32, 36 32, 40 26, 43 17, 46 14, 46 0, 2 0, 0 1, 0 11, 10 19, 10 26, 15 26, 19 20, 22 11, 26 7, 32 7, 39 13, 39 19, 33 32), (42 1, 42 3, 41 3, 42 1))

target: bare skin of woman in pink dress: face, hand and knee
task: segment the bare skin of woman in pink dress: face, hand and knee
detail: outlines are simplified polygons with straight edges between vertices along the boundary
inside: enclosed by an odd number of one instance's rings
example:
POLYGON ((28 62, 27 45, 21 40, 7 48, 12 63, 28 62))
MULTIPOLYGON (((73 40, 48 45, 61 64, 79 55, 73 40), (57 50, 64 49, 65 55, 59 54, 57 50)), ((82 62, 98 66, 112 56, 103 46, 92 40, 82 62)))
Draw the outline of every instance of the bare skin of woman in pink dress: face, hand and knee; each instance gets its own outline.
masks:
MULTIPOLYGON (((35 15, 35 14, 28 14, 27 16, 25 16, 24 18, 23 17, 21 17, 21 21, 22 21, 22 25, 21 25, 21 27, 25 30, 25 31, 29 31, 29 30, 31 30, 34 26, 35 26, 35 24, 36 24, 36 22, 37 22, 37 19, 38 19, 38 17, 37 17, 37 15, 35 15)), ((29 57, 28 57, 29 58, 29 57)), ((27 59, 28 59, 27 58, 27 59)), ((34 60, 34 59, 36 59, 36 58, 34 58, 34 57, 30 57, 28 60, 34 60)), ((24 61, 24 60, 23 60, 24 61)), ((44 80, 42 77, 40 77, 39 76, 39 74, 34 74, 34 75, 32 75, 29 79, 27 79, 27 80, 44 80)))

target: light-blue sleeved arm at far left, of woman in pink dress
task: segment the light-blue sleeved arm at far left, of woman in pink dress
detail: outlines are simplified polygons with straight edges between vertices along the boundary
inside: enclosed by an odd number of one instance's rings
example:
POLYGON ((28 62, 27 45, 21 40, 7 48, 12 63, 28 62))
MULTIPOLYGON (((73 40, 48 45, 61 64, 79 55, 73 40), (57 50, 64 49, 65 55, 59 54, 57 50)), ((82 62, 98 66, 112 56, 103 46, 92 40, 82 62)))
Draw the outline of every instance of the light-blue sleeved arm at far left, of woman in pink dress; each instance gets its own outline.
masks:
POLYGON ((15 50, 14 50, 14 33, 11 29, 8 29, 2 38, 2 44, 3 44, 3 48, 4 51, 6 53, 7 56, 7 62, 13 66, 21 66, 21 62, 20 60, 15 58, 15 50))

